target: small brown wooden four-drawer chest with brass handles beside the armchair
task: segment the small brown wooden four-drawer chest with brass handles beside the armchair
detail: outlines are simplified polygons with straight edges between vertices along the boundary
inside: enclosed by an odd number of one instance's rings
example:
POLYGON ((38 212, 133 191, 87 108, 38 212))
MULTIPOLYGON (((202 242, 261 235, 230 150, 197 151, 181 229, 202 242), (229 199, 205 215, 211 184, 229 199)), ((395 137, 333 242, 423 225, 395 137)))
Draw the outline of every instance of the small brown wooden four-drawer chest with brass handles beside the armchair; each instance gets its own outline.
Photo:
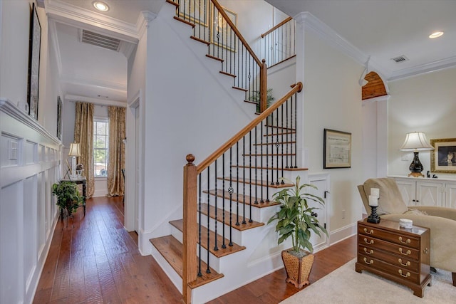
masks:
POLYGON ((423 297, 430 285, 430 230, 413 226, 400 228, 396 221, 382 219, 378 224, 358 221, 358 261, 356 271, 370 271, 408 286, 423 297))

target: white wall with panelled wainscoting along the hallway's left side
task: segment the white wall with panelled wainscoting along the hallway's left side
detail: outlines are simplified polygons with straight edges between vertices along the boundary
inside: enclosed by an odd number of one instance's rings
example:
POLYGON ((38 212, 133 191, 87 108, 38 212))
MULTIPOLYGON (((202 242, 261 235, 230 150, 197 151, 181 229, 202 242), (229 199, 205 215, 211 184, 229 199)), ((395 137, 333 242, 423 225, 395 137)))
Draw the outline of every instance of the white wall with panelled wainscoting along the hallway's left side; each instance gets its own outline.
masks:
POLYGON ((58 75, 41 23, 38 120, 23 112, 27 98, 31 1, 1 1, 0 42, 0 303, 31 303, 56 224, 51 186, 61 175, 56 138, 58 75), (16 108, 20 105, 21 110, 16 108), (17 145, 17 157, 11 150, 17 145))

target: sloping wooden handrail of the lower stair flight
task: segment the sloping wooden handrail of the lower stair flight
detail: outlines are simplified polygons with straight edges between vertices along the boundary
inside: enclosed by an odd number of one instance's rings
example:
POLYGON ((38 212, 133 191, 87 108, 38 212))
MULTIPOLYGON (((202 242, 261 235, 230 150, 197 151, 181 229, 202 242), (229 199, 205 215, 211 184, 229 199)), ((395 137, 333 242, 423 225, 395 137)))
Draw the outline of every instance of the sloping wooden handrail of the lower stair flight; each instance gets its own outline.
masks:
POLYGON ((286 93, 286 95, 278 100, 276 103, 273 103, 269 108, 267 108, 264 112, 262 112, 257 118, 252 120, 252 122, 249 123, 249 125, 245 126, 244 129, 240 130, 236 135, 234 135, 230 140, 224 143, 222 147, 219 147, 214 153, 210 154, 209 157, 204 159, 200 164, 197 165, 197 174, 201 173, 209 167, 212 162, 215 162, 215 159, 218 159, 224 152, 227 152, 227 150, 232 147, 234 144, 239 142, 239 140, 242 139, 247 133, 249 133, 254 127, 256 127, 261 121, 266 119, 269 115, 271 115, 272 112, 274 112, 277 108, 279 108, 282 104, 286 102, 292 95, 295 93, 301 92, 303 88, 303 85, 301 82, 296 83, 296 85, 291 88, 289 93, 286 93))

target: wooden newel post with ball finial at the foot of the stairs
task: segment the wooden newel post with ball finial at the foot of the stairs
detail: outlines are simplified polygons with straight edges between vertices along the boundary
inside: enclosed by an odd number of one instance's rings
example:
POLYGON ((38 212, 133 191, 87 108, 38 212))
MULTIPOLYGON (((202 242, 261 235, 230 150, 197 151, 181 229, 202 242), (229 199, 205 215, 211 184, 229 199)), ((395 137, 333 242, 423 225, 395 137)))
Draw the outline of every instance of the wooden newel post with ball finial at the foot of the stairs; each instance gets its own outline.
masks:
POLYGON ((192 290, 188 283, 197 278, 197 167, 195 156, 187 154, 184 166, 184 231, 182 253, 182 300, 191 303, 192 290))

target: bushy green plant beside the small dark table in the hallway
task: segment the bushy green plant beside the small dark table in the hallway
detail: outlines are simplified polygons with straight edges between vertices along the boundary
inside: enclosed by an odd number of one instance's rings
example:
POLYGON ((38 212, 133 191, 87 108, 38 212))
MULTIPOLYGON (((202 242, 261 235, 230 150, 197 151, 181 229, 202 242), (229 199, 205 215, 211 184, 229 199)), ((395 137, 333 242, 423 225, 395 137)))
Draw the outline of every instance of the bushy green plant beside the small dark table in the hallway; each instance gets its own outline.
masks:
POLYGON ((74 182, 61 181, 52 185, 52 194, 57 196, 56 205, 71 216, 78 206, 83 204, 83 196, 79 193, 78 185, 74 182))

